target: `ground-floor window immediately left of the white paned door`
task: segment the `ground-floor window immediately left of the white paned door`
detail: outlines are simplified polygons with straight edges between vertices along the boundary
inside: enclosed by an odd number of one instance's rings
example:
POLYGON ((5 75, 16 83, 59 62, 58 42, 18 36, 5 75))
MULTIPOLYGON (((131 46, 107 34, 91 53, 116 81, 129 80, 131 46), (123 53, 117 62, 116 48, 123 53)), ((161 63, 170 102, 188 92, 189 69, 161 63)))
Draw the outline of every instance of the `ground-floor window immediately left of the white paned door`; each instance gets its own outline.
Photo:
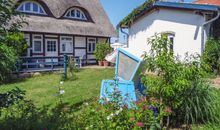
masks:
POLYGON ((42 53, 43 50, 43 39, 41 35, 33 35, 33 52, 42 53))

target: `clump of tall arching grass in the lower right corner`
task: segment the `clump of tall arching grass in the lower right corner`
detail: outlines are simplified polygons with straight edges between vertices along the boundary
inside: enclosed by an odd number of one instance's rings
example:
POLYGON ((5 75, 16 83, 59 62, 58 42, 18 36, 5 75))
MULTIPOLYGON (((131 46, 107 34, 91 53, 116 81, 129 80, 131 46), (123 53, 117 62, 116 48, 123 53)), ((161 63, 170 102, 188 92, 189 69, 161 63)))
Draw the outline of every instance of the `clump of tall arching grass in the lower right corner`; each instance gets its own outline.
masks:
POLYGON ((193 87, 185 91, 185 100, 180 106, 179 115, 185 124, 207 123, 219 121, 219 95, 204 81, 195 81, 193 87))

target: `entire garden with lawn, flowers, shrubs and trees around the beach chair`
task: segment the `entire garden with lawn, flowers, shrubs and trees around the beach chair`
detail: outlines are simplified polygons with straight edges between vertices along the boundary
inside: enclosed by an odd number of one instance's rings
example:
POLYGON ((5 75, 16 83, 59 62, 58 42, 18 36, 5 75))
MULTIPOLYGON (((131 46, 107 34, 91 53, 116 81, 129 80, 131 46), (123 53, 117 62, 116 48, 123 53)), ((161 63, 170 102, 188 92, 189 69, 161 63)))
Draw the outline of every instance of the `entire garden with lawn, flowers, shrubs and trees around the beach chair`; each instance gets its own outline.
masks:
MULTIPOLYGON (((146 89, 128 105, 118 79, 110 98, 99 98, 101 81, 114 78, 112 68, 78 69, 70 60, 67 78, 59 71, 15 77, 15 64, 27 48, 18 31, 25 22, 21 17, 8 24, 20 15, 11 10, 10 0, 0 2, 5 14, 0 15, 1 130, 220 129, 220 90, 210 82, 220 72, 218 39, 207 41, 202 56, 186 54, 184 59, 174 56, 167 35, 148 39, 151 49, 138 73, 146 89)), ((106 45, 96 48, 99 61, 104 59, 97 49, 106 45)))

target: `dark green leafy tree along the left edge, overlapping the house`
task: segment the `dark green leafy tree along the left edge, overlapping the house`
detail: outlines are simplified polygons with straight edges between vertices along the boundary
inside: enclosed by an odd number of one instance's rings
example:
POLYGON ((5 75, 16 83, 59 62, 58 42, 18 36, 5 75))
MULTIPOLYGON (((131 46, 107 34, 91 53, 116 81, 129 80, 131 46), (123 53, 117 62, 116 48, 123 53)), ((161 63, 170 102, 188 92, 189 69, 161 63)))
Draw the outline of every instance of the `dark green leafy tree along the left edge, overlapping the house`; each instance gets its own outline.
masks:
POLYGON ((18 56, 27 47, 19 32, 25 22, 15 5, 14 0, 0 0, 0 83, 10 77, 18 56))

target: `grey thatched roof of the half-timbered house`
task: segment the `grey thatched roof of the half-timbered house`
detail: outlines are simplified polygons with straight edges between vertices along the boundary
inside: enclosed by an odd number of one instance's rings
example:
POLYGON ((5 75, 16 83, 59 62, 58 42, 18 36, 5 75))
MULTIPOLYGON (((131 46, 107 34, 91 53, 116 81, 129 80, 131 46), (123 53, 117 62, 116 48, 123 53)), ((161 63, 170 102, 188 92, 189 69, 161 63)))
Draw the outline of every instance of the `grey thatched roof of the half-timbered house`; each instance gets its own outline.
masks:
MULTIPOLYGON (((58 34, 75 34, 88 36, 116 36, 106 12, 99 0, 34 0, 41 4, 49 17, 27 15, 25 25, 21 31, 45 32, 58 34), (81 8, 89 21, 63 19, 64 14, 71 7, 81 8)), ((22 2, 19 0, 18 2, 22 2)))

